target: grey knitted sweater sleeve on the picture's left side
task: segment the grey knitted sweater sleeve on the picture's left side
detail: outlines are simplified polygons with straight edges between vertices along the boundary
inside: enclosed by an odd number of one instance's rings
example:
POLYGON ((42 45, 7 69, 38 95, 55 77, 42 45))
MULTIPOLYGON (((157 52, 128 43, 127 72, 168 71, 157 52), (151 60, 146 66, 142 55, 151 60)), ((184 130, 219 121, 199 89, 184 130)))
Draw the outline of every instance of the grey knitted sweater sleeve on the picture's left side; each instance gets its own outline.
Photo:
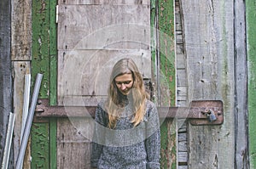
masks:
POLYGON ((98 104, 95 115, 94 133, 92 139, 92 152, 90 163, 92 167, 97 167, 98 161, 102 155, 104 144, 104 129, 106 127, 106 113, 102 110, 102 105, 98 104))

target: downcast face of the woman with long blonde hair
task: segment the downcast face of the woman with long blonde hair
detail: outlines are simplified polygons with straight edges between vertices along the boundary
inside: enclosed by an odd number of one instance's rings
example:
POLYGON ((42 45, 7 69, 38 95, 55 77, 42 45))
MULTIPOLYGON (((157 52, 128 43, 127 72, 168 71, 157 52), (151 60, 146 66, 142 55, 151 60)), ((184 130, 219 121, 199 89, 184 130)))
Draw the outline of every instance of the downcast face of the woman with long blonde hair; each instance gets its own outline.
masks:
POLYGON ((133 86, 133 77, 131 73, 125 73, 120 76, 116 76, 114 79, 116 86, 119 89, 119 92, 128 95, 131 87, 133 86))

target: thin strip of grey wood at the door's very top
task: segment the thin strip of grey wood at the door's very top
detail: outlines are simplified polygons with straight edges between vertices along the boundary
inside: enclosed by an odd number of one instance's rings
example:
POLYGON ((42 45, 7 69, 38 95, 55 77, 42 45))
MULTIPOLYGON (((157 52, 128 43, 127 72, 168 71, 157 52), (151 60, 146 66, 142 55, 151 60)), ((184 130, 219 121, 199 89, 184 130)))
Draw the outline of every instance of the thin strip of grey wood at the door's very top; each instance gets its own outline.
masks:
POLYGON ((79 4, 79 5, 131 5, 131 4, 148 4, 150 0, 59 0, 59 4, 79 4))

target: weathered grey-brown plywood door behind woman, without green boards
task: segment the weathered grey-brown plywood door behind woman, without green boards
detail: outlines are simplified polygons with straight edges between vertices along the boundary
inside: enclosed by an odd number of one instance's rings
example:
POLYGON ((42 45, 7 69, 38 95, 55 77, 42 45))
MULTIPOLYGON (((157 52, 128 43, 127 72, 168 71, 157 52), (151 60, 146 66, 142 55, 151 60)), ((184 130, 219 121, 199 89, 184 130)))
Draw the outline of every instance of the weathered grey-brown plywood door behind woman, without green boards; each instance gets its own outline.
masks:
MULTIPOLYGON (((132 58, 152 80, 150 1, 59 1, 58 105, 106 98, 113 65, 132 58)), ((86 111, 86 110, 84 110, 86 111)), ((90 168, 93 119, 57 120, 57 167, 90 168)))

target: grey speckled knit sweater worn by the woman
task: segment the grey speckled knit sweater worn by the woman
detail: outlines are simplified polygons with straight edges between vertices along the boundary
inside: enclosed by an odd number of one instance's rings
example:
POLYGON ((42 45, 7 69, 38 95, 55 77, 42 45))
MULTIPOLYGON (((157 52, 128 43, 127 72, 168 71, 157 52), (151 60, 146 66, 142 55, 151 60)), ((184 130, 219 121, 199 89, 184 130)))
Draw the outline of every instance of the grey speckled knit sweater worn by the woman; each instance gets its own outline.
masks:
POLYGON ((147 100, 143 121, 133 127, 127 105, 114 129, 108 128, 103 103, 96 109, 91 166, 98 169, 160 168, 160 122, 155 105, 147 100))

